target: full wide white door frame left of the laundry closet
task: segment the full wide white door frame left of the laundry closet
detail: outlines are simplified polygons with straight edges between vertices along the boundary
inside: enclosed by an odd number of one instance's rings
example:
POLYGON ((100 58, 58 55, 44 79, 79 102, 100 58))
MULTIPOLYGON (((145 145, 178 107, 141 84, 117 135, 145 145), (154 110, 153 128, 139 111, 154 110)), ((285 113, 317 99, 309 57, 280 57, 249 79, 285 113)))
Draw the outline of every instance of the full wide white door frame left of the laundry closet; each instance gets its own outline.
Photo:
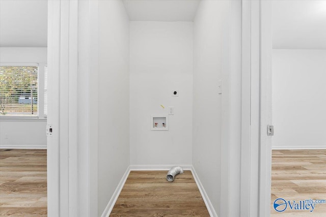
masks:
POLYGON ((97 0, 48 1, 49 217, 98 215, 97 12, 97 0))

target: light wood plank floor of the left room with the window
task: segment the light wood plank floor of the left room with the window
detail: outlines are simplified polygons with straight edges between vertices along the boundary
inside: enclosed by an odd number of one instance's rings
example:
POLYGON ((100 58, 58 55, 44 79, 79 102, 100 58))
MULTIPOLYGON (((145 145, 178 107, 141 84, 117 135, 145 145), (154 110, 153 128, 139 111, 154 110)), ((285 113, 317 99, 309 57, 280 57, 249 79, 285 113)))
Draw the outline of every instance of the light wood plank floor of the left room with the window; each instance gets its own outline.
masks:
POLYGON ((0 216, 46 216, 45 149, 0 149, 0 216))

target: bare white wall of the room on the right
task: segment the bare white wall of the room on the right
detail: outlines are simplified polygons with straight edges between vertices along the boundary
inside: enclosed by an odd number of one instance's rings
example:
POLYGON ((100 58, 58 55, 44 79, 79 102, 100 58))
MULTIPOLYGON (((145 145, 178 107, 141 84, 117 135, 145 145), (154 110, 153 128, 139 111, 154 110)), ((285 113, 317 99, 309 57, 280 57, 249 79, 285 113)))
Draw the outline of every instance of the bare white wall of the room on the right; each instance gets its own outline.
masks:
POLYGON ((326 50, 273 50, 273 148, 326 148, 326 50))

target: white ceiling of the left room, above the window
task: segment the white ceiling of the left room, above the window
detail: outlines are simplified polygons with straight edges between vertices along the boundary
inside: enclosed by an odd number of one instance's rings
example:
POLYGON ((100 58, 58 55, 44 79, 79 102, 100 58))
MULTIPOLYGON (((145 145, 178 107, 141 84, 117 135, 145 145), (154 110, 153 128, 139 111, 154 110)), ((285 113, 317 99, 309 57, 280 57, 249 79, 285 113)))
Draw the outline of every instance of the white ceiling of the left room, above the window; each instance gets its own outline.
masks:
POLYGON ((46 0, 0 0, 1 47, 47 47, 46 0))

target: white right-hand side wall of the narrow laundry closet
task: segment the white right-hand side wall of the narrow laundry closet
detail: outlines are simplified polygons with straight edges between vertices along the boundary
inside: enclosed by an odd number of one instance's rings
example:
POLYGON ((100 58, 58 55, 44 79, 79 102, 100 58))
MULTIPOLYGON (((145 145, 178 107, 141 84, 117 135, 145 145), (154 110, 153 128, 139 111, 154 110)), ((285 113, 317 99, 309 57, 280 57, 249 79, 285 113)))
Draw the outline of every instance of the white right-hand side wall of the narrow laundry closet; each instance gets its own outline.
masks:
POLYGON ((220 214, 223 21, 228 1, 201 1, 194 21, 193 166, 220 214))

